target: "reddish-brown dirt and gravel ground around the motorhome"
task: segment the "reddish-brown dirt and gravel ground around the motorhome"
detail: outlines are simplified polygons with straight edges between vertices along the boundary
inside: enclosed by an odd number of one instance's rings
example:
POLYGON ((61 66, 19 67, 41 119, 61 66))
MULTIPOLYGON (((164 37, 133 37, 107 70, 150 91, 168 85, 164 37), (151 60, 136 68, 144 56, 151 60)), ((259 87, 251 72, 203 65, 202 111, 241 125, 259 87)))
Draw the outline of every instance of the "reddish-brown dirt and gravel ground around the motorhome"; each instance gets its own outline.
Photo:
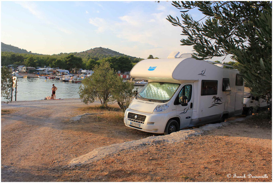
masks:
POLYGON ((2 103, 1 181, 272 180, 272 127, 269 120, 253 119, 185 141, 134 147, 82 167, 64 168, 97 147, 153 135, 125 127, 117 108, 107 111, 95 105, 99 103, 86 107, 78 99, 2 103), (93 114, 69 121, 85 112, 93 114), (246 178, 233 178, 234 173, 246 178), (268 178, 248 178, 249 173, 268 178))

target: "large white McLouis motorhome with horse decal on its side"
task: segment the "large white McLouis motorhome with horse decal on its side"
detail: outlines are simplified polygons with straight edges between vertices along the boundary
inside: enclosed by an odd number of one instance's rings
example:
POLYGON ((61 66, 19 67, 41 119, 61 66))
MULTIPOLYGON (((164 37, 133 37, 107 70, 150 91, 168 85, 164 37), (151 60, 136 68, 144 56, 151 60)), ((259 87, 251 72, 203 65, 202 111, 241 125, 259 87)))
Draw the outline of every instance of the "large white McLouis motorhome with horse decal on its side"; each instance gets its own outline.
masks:
POLYGON ((145 59, 133 67, 131 77, 148 83, 125 111, 127 127, 170 134, 242 114, 244 82, 237 70, 177 55, 145 59))

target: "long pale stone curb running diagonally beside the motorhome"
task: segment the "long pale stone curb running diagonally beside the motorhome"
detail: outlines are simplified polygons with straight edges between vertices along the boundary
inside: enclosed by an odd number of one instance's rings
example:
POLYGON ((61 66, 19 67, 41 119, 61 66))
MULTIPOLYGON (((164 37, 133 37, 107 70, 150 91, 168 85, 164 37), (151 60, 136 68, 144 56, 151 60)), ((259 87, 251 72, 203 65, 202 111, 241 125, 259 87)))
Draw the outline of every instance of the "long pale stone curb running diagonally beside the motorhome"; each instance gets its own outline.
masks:
MULTIPOLYGON (((76 116, 77 117, 77 116, 76 116)), ((129 149, 134 146, 140 146, 143 144, 156 143, 158 141, 165 141, 168 143, 173 143, 177 141, 185 140, 189 135, 200 135, 205 131, 209 131, 221 126, 227 126, 230 123, 243 121, 245 119, 250 118, 251 116, 247 116, 246 118, 238 118, 228 122, 216 123, 216 124, 207 124, 205 126, 195 128, 194 130, 180 130, 178 132, 173 132, 170 135, 162 135, 162 136, 150 136, 144 139, 136 140, 136 141, 128 141, 123 143, 116 143, 109 146, 99 147, 94 149, 93 151, 81 155, 80 157, 74 158, 71 160, 68 166, 66 167, 74 167, 81 166, 93 161, 99 160, 106 155, 117 153, 124 149, 129 149)))

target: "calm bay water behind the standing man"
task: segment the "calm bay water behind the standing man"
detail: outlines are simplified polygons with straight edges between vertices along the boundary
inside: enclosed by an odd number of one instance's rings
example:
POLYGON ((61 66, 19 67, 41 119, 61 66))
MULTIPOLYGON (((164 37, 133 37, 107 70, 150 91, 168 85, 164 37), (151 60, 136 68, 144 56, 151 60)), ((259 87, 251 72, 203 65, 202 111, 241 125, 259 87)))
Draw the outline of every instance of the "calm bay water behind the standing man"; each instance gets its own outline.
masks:
MULTIPOLYGON (((41 100, 46 96, 51 96, 52 84, 58 88, 56 91, 56 99, 80 98, 78 91, 81 83, 62 82, 55 79, 18 78, 16 100, 41 100)), ((135 89, 140 91, 142 87, 143 86, 135 86, 135 89)), ((15 90, 12 100, 15 100, 15 90)), ((1 97, 1 101, 6 100, 1 97)))

